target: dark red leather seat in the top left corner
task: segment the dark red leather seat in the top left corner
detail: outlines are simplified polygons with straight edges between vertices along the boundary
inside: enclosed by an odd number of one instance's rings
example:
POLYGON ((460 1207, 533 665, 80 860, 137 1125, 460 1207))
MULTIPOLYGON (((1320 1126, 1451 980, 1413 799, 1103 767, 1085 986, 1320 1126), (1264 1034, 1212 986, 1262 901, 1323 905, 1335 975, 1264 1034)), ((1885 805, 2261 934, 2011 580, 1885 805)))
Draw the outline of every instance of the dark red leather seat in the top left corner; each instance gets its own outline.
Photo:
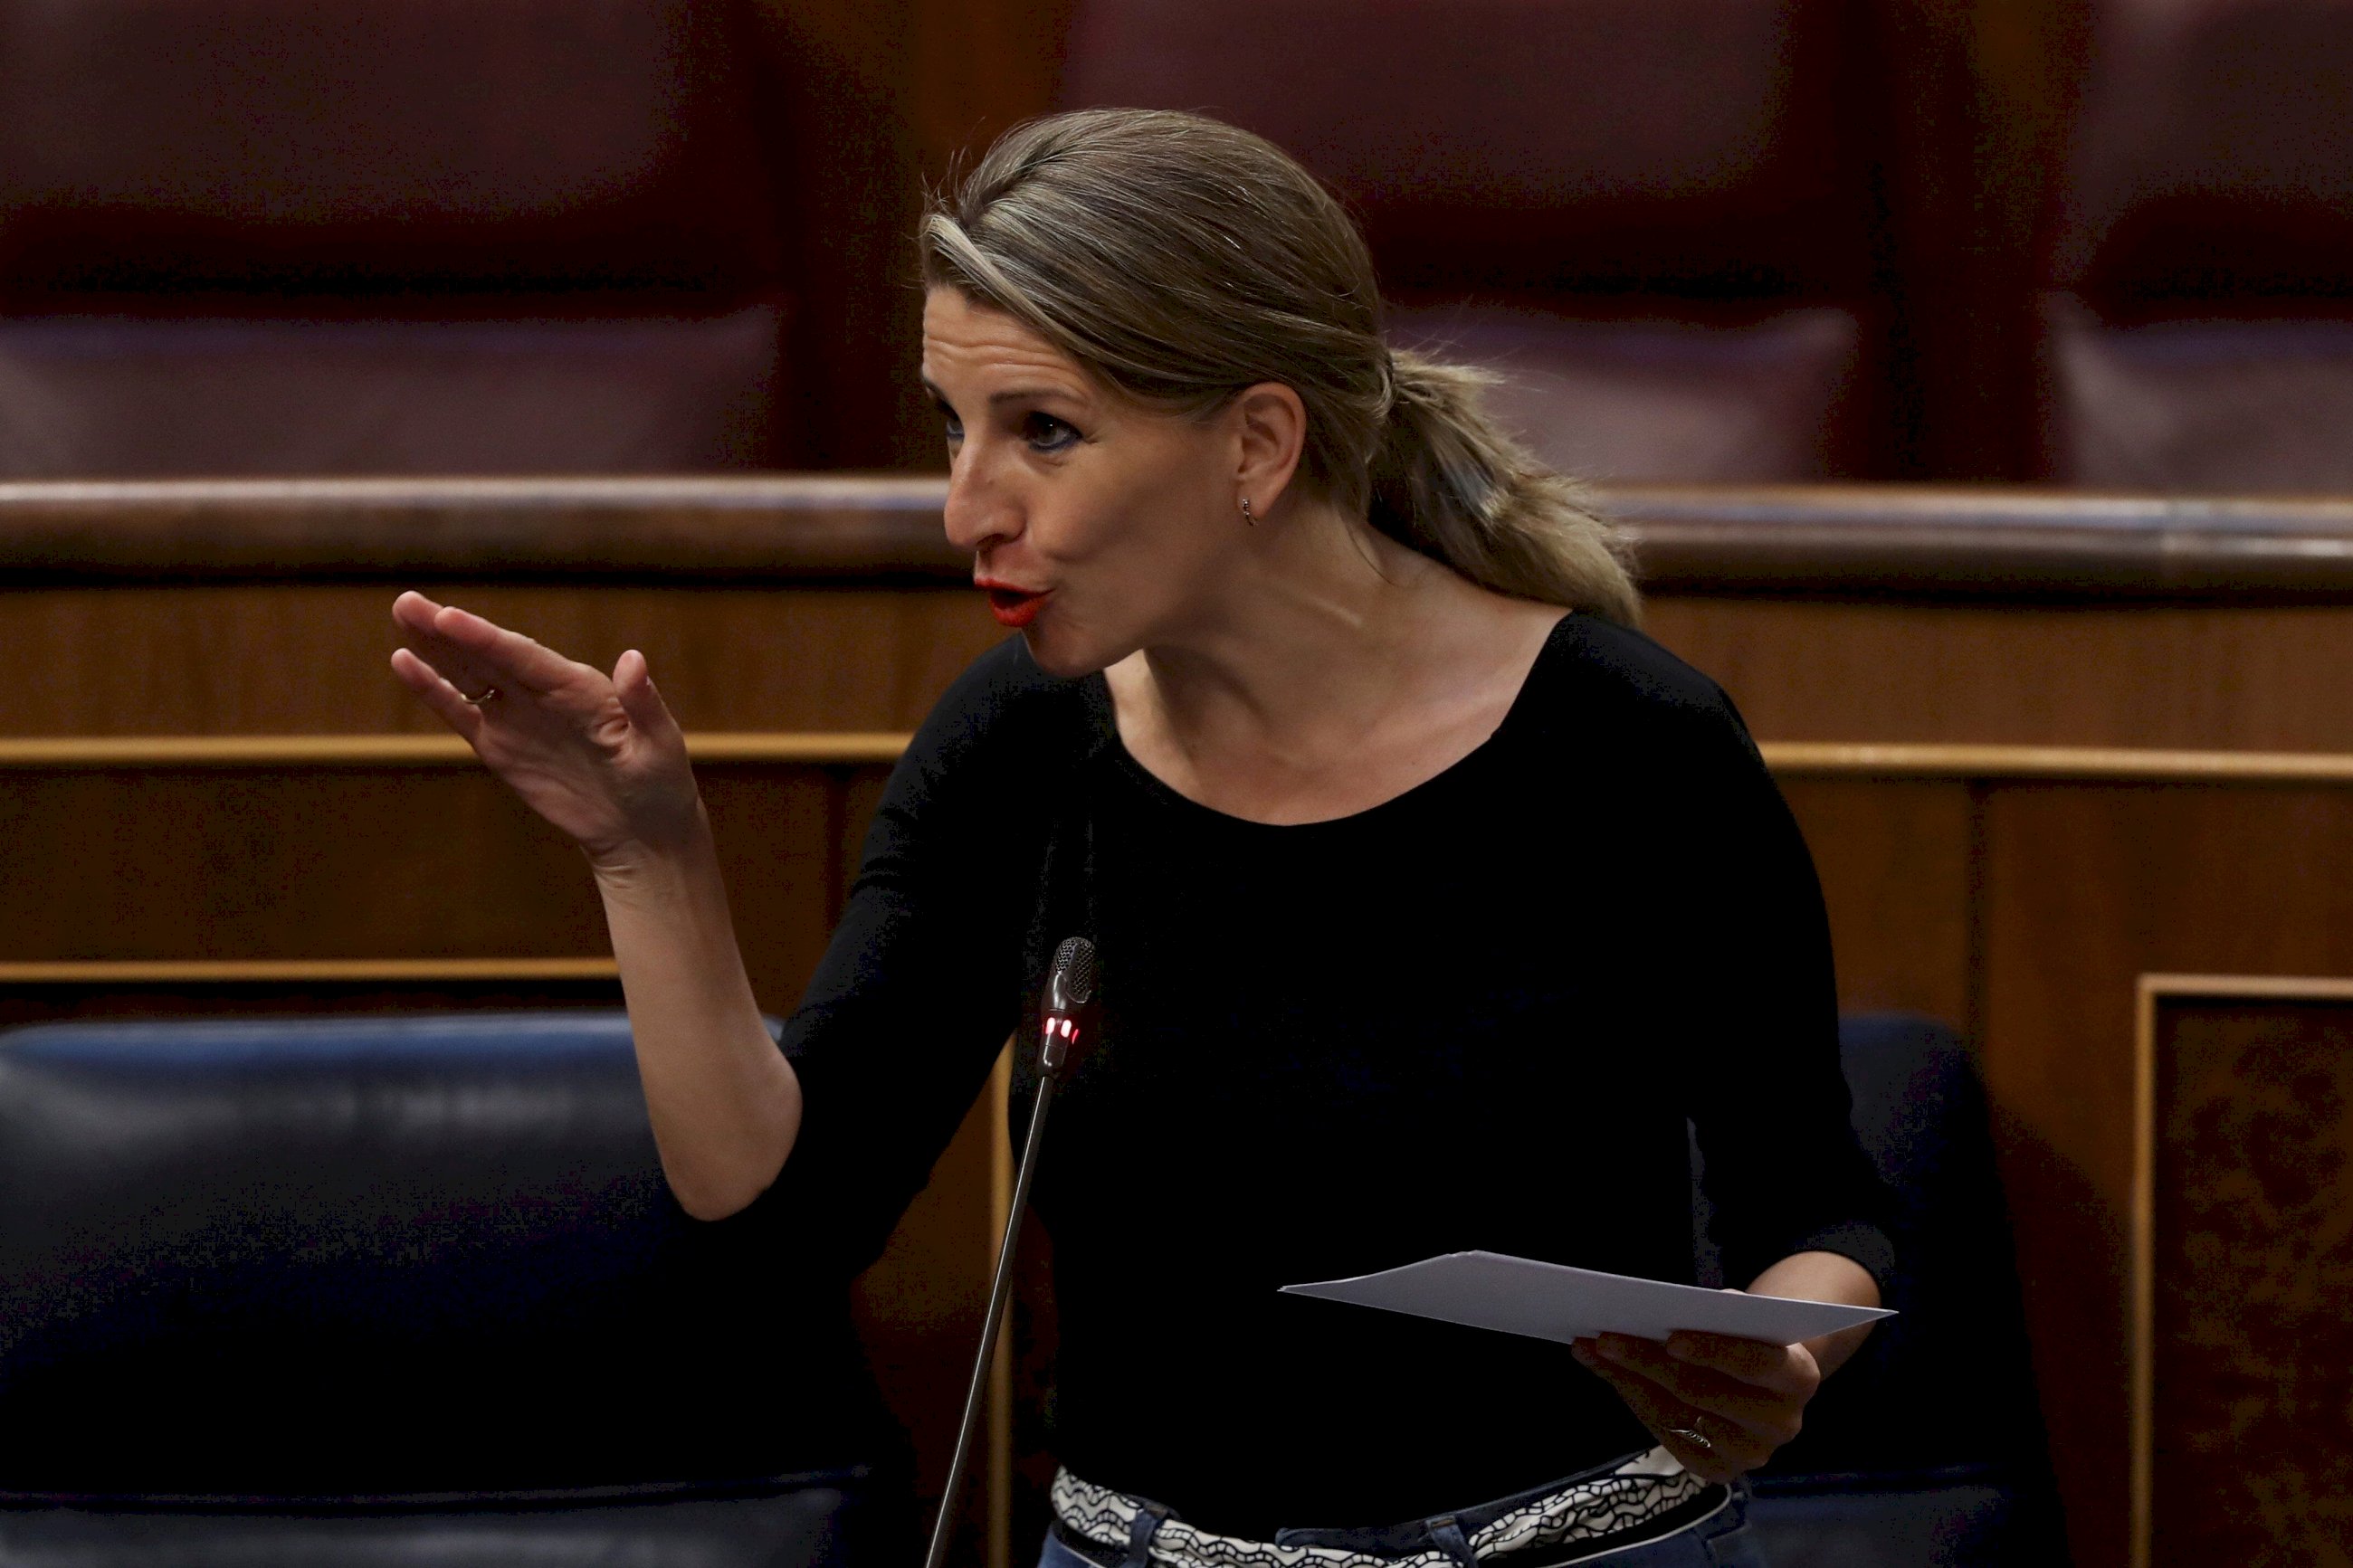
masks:
POLYGON ((793 461, 739 28, 0 0, 0 477, 793 461))

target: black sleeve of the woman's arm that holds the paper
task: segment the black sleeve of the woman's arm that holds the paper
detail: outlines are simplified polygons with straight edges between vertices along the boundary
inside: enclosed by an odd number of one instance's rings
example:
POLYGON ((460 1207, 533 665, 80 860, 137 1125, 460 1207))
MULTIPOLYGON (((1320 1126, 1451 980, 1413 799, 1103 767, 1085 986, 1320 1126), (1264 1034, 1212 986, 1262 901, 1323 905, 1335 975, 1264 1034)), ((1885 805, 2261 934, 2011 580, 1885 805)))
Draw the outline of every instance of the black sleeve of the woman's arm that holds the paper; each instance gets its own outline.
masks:
POLYGON ((1729 698, 1678 715, 1678 853, 1661 896, 1678 943, 1687 1091, 1725 1284, 1791 1253, 1852 1258, 1887 1293, 1887 1194, 1852 1124, 1821 882, 1729 698))

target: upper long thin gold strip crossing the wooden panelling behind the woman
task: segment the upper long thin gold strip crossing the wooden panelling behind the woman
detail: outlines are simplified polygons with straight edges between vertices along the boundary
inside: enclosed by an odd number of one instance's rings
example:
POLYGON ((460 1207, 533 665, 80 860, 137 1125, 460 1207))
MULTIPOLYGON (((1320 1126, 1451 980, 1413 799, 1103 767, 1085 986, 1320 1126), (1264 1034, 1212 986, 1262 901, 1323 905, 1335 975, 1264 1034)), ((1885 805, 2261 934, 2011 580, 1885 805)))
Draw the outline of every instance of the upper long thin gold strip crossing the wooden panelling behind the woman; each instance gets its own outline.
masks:
MULTIPOLYGON (((687 736, 696 762, 885 766, 908 745, 901 731, 704 731, 687 736)), ((2122 745, 1925 745, 1878 741, 1765 741, 1765 764, 1784 778, 2052 778, 2082 783, 2353 783, 2348 752, 2205 752, 2122 745)), ((471 766, 456 736, 14 736, 0 769, 169 766, 471 766)))

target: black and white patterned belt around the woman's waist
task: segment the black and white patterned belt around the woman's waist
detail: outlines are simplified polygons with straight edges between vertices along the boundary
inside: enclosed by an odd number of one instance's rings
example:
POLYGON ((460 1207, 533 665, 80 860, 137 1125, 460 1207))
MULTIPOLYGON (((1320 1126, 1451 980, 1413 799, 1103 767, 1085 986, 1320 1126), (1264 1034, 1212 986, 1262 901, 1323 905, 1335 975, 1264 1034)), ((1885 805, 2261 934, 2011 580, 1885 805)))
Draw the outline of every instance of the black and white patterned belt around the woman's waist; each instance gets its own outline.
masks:
MULTIPOLYGON (((1454 1533, 1454 1540, 1466 1542, 1475 1561, 1577 1544, 1602 1549, 1609 1537, 1640 1533, 1642 1526, 1697 1505, 1711 1490, 1725 1488, 1682 1469, 1666 1448, 1652 1448, 1612 1472, 1586 1474, 1558 1490, 1513 1502, 1475 1530, 1454 1533)), ((1080 1481, 1068 1469, 1054 1474, 1052 1497, 1064 1530, 1120 1554, 1129 1552, 1136 1537, 1136 1519, 1158 1512, 1141 1497, 1080 1481)), ((1694 1512, 1689 1523, 1706 1514, 1694 1512)), ((1200 1530, 1174 1514, 1162 1516, 1151 1530, 1148 1552, 1155 1563, 1172 1568, 1461 1568, 1461 1554, 1442 1544, 1405 1556, 1275 1544, 1200 1530)))

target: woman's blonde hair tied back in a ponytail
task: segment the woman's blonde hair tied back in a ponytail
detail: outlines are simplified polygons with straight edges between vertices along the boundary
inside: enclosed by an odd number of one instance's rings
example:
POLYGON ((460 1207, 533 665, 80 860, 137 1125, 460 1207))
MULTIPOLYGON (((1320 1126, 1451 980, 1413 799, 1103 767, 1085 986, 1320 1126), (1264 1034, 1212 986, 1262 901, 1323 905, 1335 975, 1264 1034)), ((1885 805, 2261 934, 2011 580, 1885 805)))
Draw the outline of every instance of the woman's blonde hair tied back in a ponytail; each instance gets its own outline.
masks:
POLYGON ((1016 125, 932 200, 922 277, 1186 414, 1280 381, 1315 491, 1497 592, 1640 621, 1586 491, 1487 418, 1494 376, 1386 346, 1362 235, 1261 136, 1141 108, 1016 125))

